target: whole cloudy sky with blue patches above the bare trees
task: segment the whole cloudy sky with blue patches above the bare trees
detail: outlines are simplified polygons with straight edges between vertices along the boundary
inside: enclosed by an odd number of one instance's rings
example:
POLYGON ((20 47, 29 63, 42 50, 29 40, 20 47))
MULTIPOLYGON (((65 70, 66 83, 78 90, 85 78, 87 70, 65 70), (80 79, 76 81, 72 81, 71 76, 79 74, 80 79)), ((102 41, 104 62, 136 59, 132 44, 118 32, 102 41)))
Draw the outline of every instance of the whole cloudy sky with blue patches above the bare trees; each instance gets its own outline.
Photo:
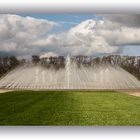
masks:
POLYGON ((0 15, 0 55, 140 55, 140 15, 0 15))

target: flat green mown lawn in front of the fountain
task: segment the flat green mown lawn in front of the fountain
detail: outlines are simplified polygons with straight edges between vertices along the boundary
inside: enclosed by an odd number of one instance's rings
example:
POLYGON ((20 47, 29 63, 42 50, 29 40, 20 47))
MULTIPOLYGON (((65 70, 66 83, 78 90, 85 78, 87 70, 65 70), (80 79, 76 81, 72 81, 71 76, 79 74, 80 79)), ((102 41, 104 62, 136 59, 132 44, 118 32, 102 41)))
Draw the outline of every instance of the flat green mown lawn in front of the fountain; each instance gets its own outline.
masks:
POLYGON ((140 97, 107 91, 0 94, 0 125, 140 125, 140 97))

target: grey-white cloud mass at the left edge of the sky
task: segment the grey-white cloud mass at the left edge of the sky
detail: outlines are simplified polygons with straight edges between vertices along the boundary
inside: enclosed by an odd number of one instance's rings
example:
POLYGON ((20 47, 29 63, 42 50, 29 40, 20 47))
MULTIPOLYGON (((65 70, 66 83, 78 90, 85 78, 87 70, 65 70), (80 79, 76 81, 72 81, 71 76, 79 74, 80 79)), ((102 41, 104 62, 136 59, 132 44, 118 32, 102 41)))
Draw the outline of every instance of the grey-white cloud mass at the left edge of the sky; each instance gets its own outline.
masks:
POLYGON ((29 53, 28 51, 34 50, 32 42, 46 36, 54 26, 56 23, 48 20, 0 15, 0 51, 15 51, 20 55, 22 52, 29 53))

